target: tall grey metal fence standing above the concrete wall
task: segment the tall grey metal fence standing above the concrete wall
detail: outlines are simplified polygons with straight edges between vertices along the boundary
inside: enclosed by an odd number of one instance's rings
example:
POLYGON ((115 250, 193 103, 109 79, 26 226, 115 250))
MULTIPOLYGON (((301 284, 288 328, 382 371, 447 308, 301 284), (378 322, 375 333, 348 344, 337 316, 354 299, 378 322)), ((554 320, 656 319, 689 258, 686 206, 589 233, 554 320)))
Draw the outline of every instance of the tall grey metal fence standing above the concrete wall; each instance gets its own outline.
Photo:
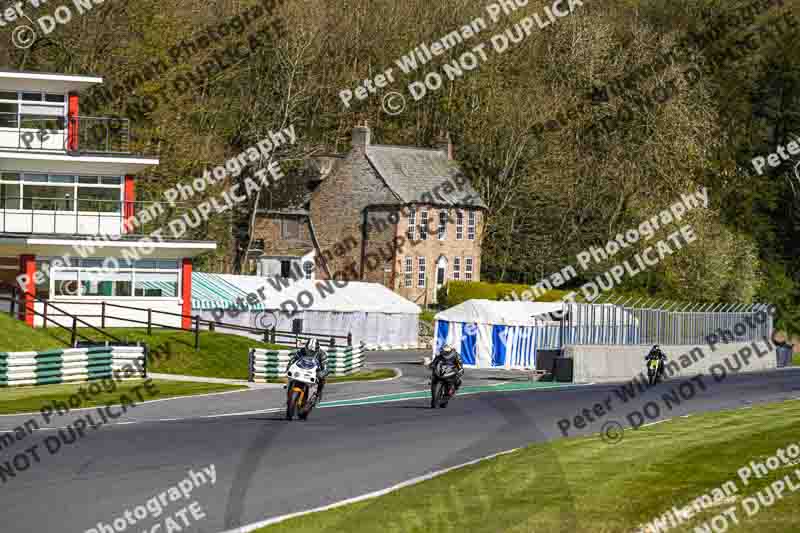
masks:
POLYGON ((715 338, 719 342, 749 342, 771 338, 773 331, 772 309, 760 303, 619 298, 603 303, 564 303, 557 318, 558 336, 547 335, 547 346, 540 348, 567 344, 703 345, 715 338))

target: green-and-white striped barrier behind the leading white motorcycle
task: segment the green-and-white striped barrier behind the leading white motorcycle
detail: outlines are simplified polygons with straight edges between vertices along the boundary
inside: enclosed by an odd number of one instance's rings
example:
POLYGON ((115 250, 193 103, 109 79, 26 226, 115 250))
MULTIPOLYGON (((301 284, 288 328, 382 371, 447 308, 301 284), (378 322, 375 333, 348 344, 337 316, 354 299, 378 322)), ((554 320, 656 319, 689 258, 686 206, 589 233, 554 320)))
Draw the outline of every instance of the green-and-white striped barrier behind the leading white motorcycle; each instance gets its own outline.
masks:
MULTIPOLYGON (((250 350, 250 381, 264 382, 286 377, 286 365, 296 350, 250 350)), ((331 376, 347 376, 364 366, 364 344, 343 348, 329 348, 328 368, 331 376)))

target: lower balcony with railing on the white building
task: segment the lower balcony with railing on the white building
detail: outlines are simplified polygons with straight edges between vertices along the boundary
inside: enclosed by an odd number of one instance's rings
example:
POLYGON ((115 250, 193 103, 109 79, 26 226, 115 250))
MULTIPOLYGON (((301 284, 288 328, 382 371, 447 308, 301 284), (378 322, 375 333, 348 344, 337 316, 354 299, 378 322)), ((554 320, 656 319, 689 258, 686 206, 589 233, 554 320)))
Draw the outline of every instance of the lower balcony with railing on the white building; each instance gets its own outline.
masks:
POLYGON ((165 228, 188 206, 117 200, 62 198, 0 199, 0 235, 148 235, 165 228), (148 216, 139 216, 144 212, 148 216), (149 220, 144 224, 134 221, 149 220))

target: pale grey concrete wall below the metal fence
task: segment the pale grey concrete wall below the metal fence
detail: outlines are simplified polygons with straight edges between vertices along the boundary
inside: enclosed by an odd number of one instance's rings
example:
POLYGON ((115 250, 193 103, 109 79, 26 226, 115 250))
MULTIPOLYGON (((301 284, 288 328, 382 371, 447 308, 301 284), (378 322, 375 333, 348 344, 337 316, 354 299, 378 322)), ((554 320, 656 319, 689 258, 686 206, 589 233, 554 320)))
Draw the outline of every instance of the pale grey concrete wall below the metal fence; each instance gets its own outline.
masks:
MULTIPOLYGON (((576 383, 629 381, 639 373, 647 376, 644 358, 650 348, 651 346, 571 345, 564 347, 564 356, 574 361, 576 383)), ((729 373, 777 368, 775 348, 763 339, 749 343, 719 344, 715 348, 712 351, 707 345, 662 345, 661 350, 668 358, 665 379, 710 375, 711 367, 717 364, 724 365, 729 373)))

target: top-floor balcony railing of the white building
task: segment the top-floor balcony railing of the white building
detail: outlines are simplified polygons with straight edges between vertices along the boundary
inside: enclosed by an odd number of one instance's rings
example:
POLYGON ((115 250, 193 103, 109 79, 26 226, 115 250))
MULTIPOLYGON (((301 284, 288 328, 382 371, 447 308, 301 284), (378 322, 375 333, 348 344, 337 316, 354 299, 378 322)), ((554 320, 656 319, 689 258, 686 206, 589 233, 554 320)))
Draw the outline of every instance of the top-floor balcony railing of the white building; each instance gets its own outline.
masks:
POLYGON ((127 155, 130 141, 127 118, 0 113, 0 148, 127 155))

